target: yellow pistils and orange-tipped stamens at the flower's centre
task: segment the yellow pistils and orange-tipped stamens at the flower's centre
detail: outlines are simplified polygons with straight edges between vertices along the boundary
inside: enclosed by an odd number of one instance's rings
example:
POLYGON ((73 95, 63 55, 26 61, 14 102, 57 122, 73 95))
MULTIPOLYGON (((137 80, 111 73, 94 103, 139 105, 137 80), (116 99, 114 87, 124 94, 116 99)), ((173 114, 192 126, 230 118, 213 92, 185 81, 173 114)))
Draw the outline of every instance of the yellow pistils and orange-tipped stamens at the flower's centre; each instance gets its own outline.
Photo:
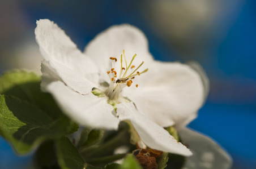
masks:
MULTIPOLYGON (((131 84, 133 83, 132 79, 134 79, 136 75, 140 75, 148 71, 148 69, 145 69, 143 72, 138 71, 140 66, 143 65, 144 61, 142 61, 142 63, 137 68, 135 68, 134 65, 131 65, 135 57, 136 57, 136 54, 133 56, 133 58, 130 61, 130 64, 127 66, 125 50, 123 50, 123 54, 121 55, 121 69, 118 77, 117 77, 117 72, 114 69, 114 65, 117 62, 117 58, 110 57, 110 59, 113 61, 112 69, 106 72, 109 75, 110 84, 108 89, 105 92, 105 94, 109 97, 109 99, 111 100, 118 99, 122 89, 126 86, 130 87, 131 84), (125 67, 123 67, 123 58, 125 60, 125 67)), ((136 87, 138 87, 138 84, 136 84, 136 87)))

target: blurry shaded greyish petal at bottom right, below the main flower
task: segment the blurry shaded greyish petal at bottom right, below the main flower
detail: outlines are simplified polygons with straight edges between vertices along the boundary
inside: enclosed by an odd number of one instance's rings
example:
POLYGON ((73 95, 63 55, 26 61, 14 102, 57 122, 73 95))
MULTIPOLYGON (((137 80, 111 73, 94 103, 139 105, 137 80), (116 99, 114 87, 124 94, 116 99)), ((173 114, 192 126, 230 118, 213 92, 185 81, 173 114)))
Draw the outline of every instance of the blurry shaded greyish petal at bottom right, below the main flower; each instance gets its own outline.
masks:
POLYGON ((231 168, 231 157, 209 137, 185 127, 178 130, 178 134, 193 152, 193 155, 187 158, 184 168, 231 168))

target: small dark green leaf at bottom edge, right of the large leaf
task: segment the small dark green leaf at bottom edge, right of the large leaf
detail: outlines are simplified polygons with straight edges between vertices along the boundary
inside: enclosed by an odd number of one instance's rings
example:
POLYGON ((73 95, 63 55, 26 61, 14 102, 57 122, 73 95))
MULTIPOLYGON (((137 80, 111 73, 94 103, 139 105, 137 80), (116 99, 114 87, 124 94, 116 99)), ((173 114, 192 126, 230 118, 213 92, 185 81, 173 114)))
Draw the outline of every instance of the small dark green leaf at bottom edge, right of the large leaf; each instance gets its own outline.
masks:
POLYGON ((62 169, 82 169, 86 165, 83 157, 67 137, 56 141, 56 150, 58 163, 62 169))

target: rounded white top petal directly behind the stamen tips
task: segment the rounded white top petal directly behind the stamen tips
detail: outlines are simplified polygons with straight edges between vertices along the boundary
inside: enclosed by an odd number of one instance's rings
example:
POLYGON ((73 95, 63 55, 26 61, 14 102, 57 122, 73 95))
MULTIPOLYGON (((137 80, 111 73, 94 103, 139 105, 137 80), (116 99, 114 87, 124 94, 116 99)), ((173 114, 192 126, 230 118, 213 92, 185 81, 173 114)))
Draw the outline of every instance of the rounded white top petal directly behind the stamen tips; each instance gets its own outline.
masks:
MULTIPOLYGON (((123 50, 125 50, 127 64, 130 63, 134 54, 137 54, 133 63, 135 66, 138 66, 142 61, 153 60, 148 52, 147 38, 143 32, 128 24, 112 26, 98 34, 86 46, 84 52, 99 65, 100 72, 102 73, 105 73, 112 67, 109 57, 116 57, 118 60, 115 70, 119 73, 121 68, 120 55, 123 53, 123 50)), ((123 67, 125 67, 124 58, 123 67)))

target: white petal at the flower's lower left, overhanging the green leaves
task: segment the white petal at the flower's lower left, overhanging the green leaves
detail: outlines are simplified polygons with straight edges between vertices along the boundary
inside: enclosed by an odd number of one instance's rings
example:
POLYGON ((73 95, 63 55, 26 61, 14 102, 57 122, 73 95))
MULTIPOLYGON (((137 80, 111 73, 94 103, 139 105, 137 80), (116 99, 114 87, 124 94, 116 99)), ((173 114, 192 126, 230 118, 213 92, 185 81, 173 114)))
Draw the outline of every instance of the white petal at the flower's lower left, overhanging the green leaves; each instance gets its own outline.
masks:
POLYGON ((92 93, 81 95, 59 81, 50 83, 46 90, 53 95, 63 112, 80 124, 118 128, 119 120, 112 114, 113 107, 106 103, 106 97, 97 97, 92 93))

